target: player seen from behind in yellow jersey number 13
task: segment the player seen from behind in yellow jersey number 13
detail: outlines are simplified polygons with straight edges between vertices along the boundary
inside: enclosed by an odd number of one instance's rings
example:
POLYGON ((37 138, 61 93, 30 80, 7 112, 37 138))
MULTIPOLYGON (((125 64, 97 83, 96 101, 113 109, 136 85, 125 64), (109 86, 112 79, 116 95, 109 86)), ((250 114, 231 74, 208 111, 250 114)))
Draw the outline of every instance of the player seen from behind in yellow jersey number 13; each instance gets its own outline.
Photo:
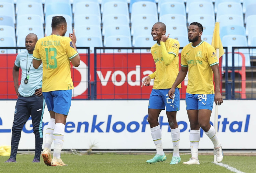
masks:
POLYGON ((75 46, 74 30, 69 37, 64 36, 66 32, 66 19, 63 16, 54 16, 52 34, 39 39, 33 51, 33 67, 37 69, 43 63, 42 92, 51 115, 51 120, 46 127, 45 146, 42 153, 44 163, 48 166, 67 166, 60 159, 60 152, 74 88, 70 75, 70 61, 73 66, 78 67, 80 56, 75 46))

